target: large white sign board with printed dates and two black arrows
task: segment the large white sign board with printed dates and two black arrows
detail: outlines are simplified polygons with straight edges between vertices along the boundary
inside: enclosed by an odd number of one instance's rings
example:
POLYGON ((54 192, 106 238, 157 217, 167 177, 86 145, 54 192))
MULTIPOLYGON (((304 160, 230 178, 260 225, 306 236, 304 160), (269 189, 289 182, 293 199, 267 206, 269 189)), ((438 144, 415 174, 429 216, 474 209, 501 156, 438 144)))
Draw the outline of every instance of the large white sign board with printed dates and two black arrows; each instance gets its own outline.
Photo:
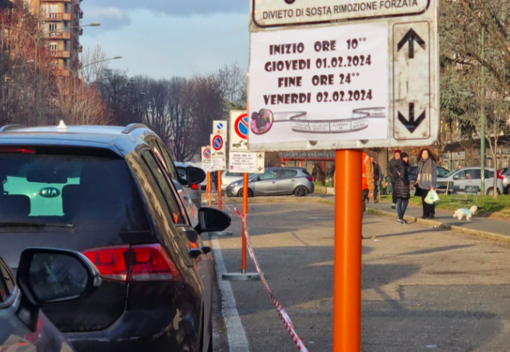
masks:
MULTIPOLYGON (((254 6, 285 4, 255 1, 254 6)), ((440 125, 438 3, 428 1, 423 7, 420 0, 407 0, 409 9, 421 8, 417 14, 328 26, 263 29, 252 19, 249 150, 434 143, 440 125)), ((312 6, 308 0, 293 3, 307 2, 312 6)), ((396 11, 401 1, 392 3, 396 11)), ((384 16, 382 1, 376 4, 375 17, 384 16)))

